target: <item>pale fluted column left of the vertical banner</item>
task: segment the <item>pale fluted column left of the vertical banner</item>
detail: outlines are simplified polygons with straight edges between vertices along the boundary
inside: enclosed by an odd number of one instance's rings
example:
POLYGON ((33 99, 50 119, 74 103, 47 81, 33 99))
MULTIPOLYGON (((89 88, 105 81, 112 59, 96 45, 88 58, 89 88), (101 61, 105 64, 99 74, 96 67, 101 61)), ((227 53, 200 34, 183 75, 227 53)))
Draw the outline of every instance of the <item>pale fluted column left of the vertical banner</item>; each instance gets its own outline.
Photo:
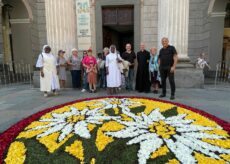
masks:
POLYGON ((76 47, 75 11, 73 0, 46 0, 47 41, 52 52, 64 49, 68 55, 76 47))

